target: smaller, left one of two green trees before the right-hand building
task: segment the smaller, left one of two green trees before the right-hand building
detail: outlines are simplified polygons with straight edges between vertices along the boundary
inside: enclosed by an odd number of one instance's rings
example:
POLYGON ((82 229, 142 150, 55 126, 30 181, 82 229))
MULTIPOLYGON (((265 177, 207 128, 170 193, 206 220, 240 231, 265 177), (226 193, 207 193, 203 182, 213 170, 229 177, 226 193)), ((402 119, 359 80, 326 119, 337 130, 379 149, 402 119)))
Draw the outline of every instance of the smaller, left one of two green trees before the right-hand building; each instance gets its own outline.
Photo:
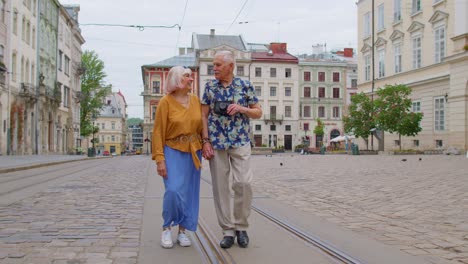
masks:
POLYGON ((371 129, 375 127, 373 110, 372 100, 361 92, 351 97, 349 114, 343 117, 345 133, 352 133, 356 137, 363 138, 367 148, 369 148, 367 139, 371 134, 371 129))

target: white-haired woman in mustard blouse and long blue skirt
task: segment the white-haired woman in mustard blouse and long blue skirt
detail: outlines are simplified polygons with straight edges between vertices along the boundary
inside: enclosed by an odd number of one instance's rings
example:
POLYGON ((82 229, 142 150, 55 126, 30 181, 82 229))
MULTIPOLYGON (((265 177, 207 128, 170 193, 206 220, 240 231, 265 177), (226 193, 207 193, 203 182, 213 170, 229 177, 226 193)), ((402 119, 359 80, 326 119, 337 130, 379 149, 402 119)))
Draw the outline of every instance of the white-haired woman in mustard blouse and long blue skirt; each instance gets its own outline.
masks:
POLYGON ((190 94, 192 71, 171 68, 164 83, 165 96, 159 101, 153 126, 153 154, 157 173, 164 180, 163 232, 161 246, 171 248, 171 226, 178 225, 177 242, 191 245, 185 230, 198 224, 201 167, 201 105, 190 94))

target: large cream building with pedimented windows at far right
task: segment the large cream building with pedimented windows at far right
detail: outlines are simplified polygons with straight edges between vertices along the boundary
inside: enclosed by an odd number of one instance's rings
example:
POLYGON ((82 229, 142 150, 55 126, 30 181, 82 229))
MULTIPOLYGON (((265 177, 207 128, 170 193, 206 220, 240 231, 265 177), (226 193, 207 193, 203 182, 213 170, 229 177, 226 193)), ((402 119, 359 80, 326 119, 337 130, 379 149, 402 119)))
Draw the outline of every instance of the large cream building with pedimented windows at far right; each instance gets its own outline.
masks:
POLYGON ((385 150, 468 149, 468 2, 360 0, 358 90, 412 89, 414 137, 385 133, 385 150), (372 9, 374 5, 374 9, 372 9), (374 63, 372 63, 374 61, 374 63))

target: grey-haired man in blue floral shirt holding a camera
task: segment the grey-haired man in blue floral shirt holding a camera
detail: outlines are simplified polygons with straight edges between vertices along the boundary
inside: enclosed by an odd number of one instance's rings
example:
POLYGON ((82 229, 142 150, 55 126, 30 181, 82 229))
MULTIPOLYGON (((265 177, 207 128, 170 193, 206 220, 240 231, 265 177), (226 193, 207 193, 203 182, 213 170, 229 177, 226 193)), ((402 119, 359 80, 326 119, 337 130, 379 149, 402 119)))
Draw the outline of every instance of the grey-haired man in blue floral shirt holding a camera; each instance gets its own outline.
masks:
POLYGON ((232 247, 237 237, 245 248, 252 204, 250 119, 260 118, 262 109, 252 84, 234 76, 231 51, 216 52, 213 66, 215 79, 206 83, 201 100, 202 155, 209 160, 216 215, 223 229, 220 246, 232 247), (232 211, 229 186, 234 192, 232 211))

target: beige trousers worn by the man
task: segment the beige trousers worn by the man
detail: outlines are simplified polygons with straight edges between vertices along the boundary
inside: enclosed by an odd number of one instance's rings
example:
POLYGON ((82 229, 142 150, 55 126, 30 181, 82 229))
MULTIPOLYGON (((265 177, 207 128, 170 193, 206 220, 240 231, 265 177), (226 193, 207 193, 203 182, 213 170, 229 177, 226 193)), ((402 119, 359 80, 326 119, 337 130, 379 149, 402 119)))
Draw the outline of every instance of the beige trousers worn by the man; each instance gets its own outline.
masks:
POLYGON ((252 170, 250 144, 228 150, 215 150, 210 160, 213 198, 218 223, 224 236, 235 230, 247 230, 252 204, 252 170), (232 182, 231 182, 232 179, 232 182), (231 186, 234 191, 234 212, 231 213, 231 186), (234 216, 234 218, 232 217, 234 216))

